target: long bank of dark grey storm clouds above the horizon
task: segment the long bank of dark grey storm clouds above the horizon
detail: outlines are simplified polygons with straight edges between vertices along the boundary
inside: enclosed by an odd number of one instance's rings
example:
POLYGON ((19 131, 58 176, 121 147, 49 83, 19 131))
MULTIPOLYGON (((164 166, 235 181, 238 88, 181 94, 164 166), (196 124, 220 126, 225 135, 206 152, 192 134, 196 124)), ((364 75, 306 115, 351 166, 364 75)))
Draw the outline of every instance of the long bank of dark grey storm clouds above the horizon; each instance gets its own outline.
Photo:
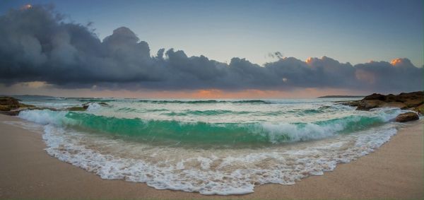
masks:
POLYGON ((423 68, 408 59, 341 64, 329 57, 300 61, 271 54, 264 66, 233 58, 230 64, 183 51, 160 49, 151 56, 148 43, 129 28, 99 38, 90 25, 64 22, 53 8, 33 6, 0 16, 0 81, 11 84, 46 81, 64 88, 151 88, 224 90, 348 88, 421 90, 423 68))

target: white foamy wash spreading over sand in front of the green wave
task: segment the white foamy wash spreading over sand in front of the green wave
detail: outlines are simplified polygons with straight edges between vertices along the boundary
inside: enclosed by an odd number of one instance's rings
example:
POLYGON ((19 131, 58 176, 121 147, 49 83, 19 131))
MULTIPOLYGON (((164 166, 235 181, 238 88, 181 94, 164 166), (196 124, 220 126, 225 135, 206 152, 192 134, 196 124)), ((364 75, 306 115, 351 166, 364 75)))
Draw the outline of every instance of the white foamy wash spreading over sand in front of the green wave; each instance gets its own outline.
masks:
POLYGON ((125 141, 92 138, 53 125, 45 126, 43 139, 49 155, 102 179, 145 182, 156 189, 228 195, 254 192, 259 184, 295 184, 310 175, 323 175, 334 170, 336 163, 348 163, 374 151, 394 134, 396 129, 388 126, 326 142, 261 151, 215 150, 212 154, 177 147, 129 149, 124 148, 128 145, 125 141), (110 153, 110 149, 120 153, 110 153))

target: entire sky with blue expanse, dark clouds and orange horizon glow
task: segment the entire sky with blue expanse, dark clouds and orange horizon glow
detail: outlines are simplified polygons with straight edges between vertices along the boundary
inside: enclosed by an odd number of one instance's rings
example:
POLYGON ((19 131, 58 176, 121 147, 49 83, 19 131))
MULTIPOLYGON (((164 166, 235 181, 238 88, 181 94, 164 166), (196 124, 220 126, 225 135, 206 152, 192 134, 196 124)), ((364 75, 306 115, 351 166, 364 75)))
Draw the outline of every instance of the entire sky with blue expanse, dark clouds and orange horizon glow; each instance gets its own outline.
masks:
POLYGON ((0 61, 0 93, 284 98, 423 86, 423 1, 1 0, 1 18, 0 58, 13 59, 0 61))

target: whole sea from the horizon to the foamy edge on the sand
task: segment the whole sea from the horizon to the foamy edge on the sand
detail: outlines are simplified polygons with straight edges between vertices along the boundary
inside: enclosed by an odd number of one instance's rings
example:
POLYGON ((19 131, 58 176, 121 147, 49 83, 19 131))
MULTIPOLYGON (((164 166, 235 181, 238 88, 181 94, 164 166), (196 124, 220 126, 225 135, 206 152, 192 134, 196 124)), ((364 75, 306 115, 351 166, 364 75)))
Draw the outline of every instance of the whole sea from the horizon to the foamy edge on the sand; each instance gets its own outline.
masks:
POLYGON ((323 175, 389 141, 404 126, 394 118, 406 112, 336 102, 349 98, 18 98, 59 109, 25 110, 23 122, 9 122, 40 132, 59 160, 106 180, 221 195, 323 175), (86 102, 85 112, 60 110, 86 102))

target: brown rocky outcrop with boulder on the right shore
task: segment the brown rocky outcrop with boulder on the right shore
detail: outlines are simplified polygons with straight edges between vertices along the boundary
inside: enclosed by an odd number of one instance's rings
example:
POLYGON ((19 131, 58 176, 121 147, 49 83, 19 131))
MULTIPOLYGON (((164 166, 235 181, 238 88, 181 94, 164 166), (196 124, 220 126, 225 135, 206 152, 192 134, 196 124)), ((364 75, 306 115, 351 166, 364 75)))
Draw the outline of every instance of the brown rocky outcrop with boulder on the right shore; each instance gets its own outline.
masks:
POLYGON ((399 95, 382 95, 374 93, 362 100, 341 102, 342 105, 356 107, 356 110, 371 110, 377 107, 398 107, 402 110, 411 110, 396 117, 396 122, 418 120, 418 114, 424 114, 424 92, 400 93, 399 95))

